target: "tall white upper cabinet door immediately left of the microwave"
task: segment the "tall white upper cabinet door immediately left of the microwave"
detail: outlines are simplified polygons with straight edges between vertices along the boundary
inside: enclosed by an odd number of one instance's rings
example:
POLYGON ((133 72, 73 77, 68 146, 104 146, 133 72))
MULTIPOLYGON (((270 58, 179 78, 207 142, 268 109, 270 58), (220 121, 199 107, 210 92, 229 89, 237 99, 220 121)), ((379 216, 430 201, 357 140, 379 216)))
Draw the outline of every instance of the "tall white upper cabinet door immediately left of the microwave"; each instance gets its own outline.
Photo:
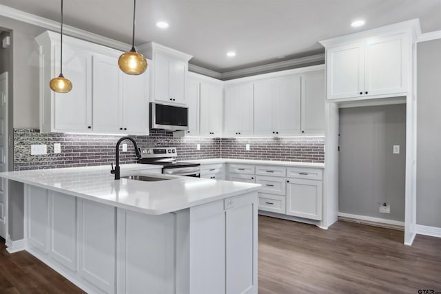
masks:
POLYGON ((123 132, 131 135, 149 134, 150 70, 139 76, 123 76, 123 132))

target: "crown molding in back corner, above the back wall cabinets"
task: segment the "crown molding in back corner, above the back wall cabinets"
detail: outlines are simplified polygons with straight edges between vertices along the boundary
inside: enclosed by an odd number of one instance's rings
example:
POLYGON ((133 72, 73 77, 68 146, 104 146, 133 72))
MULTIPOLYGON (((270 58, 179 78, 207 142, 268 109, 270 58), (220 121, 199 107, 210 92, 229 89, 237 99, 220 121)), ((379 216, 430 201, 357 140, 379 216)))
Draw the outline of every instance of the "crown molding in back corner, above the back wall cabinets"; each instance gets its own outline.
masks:
POLYGON ((301 57, 298 59, 258 65, 254 67, 244 68, 243 70, 233 70, 231 72, 215 72, 214 70, 207 70, 204 67, 193 65, 191 63, 188 65, 188 68, 191 72, 195 72, 196 74, 203 74, 205 76, 210 76, 212 78, 218 78, 225 81, 233 78, 242 78, 244 76, 255 76, 257 74, 263 74, 266 72, 277 72, 278 70, 284 70, 287 67, 294 67, 313 62, 325 63, 325 54, 316 54, 307 57, 301 57))

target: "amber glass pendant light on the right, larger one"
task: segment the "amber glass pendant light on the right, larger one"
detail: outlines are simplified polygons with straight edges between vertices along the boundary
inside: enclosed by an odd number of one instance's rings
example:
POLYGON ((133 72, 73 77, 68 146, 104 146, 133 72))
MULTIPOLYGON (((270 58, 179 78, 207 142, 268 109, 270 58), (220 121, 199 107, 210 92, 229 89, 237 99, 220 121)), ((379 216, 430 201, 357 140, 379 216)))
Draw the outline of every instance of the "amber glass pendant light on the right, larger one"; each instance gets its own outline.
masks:
POLYGON ((135 50, 135 11, 136 0, 133 1, 133 34, 132 34, 132 50, 123 53, 119 56, 118 65, 119 68, 125 74, 138 75, 147 70, 147 60, 142 54, 139 54, 135 50))

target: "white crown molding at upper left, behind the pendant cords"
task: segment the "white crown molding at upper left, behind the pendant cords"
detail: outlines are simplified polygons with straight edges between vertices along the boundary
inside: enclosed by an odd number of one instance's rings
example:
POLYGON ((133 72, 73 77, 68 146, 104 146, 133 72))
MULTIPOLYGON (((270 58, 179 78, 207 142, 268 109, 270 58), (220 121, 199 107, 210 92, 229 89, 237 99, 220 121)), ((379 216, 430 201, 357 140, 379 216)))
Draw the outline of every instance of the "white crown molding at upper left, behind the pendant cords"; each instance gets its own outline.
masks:
MULTIPOLYGON (((9 6, 4 6, 0 4, 0 16, 8 17, 10 19, 15 19, 17 21, 22 21, 23 23, 29 23, 31 25, 37 25, 41 28, 48 30, 53 30, 59 32, 60 23, 58 21, 52 21, 50 19, 45 19, 44 17, 39 17, 35 14, 30 14, 28 12, 23 12, 21 10, 11 8, 9 6)), ((99 45, 105 45, 110 48, 117 50, 127 51, 127 48, 132 48, 132 45, 123 43, 120 41, 115 41, 114 39, 101 36, 99 34, 94 34, 86 30, 80 30, 79 28, 74 28, 70 25, 63 25, 63 34, 74 36, 85 41, 90 41, 97 43, 99 45)))

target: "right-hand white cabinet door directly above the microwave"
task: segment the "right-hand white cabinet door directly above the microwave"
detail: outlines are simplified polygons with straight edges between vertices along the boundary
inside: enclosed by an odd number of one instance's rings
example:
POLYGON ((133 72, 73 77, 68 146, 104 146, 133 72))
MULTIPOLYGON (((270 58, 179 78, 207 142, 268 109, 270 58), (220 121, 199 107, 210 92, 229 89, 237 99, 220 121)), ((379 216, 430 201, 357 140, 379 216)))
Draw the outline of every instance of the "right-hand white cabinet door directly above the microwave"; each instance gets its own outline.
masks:
POLYGON ((187 65, 183 61, 170 59, 170 98, 175 103, 185 104, 185 90, 187 82, 187 65))

